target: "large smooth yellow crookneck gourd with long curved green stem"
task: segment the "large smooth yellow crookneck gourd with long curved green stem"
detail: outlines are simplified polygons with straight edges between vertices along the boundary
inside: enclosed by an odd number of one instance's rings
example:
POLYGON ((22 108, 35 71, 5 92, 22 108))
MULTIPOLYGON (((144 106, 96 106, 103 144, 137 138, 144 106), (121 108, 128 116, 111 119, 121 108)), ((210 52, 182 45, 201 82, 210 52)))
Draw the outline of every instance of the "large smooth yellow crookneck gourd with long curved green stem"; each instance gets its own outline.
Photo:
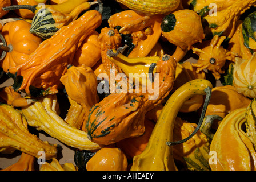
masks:
POLYGON ((171 95, 159 115, 145 150, 141 154, 134 156, 131 171, 177 170, 173 157, 173 145, 186 142, 187 139, 193 137, 201 126, 204 114, 201 115, 198 126, 193 133, 186 139, 179 140, 178 142, 173 141, 175 118, 182 104, 195 94, 207 95, 204 104, 206 109, 210 100, 211 88, 210 81, 196 79, 182 85, 171 95))

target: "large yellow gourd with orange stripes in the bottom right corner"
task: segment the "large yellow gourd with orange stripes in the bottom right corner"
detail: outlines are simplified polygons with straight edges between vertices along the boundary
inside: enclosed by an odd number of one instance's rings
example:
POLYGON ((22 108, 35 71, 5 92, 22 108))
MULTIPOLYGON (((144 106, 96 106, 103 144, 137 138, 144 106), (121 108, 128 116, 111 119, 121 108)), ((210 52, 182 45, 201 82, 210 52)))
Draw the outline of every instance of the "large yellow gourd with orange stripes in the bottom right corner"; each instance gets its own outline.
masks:
POLYGON ((210 145, 211 170, 255 171, 256 151, 246 134, 245 111, 236 109, 223 118, 210 145))

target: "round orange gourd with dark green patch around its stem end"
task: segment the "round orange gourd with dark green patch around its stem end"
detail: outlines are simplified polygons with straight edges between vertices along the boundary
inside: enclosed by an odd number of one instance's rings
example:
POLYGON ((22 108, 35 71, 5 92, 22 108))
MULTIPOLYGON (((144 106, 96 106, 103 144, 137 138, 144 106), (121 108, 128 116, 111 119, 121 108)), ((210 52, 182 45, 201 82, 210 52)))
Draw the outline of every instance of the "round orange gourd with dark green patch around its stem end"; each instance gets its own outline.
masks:
POLYGON ((166 15, 161 23, 162 35, 183 50, 205 38, 201 17, 192 10, 178 10, 166 15))

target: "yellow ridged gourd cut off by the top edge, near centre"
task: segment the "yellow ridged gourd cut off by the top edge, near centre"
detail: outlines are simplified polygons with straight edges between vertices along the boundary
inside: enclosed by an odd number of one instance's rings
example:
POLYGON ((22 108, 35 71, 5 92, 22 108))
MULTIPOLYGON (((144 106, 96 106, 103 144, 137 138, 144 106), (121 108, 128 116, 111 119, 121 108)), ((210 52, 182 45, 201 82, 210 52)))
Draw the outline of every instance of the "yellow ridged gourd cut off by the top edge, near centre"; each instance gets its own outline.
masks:
POLYGON ((180 0, 117 0, 129 9, 149 14, 169 14, 179 6, 180 0))

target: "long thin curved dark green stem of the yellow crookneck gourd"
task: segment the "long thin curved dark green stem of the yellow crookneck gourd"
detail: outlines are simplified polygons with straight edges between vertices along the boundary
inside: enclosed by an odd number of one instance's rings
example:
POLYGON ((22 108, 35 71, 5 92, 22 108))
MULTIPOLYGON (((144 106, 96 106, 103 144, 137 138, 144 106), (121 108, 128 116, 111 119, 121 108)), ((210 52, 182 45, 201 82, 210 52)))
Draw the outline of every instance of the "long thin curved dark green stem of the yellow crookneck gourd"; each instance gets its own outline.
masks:
POLYGON ((203 119, 205 118, 205 113, 206 113, 206 109, 207 109, 207 106, 209 105, 209 102, 210 102, 210 98, 211 98, 211 88, 208 86, 205 90, 205 93, 206 93, 206 98, 205 98, 205 102, 203 104, 203 109, 202 109, 202 113, 201 113, 201 117, 199 119, 199 122, 197 124, 197 127, 195 128, 195 130, 193 131, 193 133, 191 133, 189 135, 189 137, 185 138, 185 139, 182 139, 182 140, 179 140, 177 142, 166 142, 166 144, 168 146, 174 146, 176 144, 181 144, 181 143, 184 143, 186 142, 187 140, 189 140, 190 138, 192 138, 196 133, 197 131, 200 129, 202 123, 203 123, 203 119))

